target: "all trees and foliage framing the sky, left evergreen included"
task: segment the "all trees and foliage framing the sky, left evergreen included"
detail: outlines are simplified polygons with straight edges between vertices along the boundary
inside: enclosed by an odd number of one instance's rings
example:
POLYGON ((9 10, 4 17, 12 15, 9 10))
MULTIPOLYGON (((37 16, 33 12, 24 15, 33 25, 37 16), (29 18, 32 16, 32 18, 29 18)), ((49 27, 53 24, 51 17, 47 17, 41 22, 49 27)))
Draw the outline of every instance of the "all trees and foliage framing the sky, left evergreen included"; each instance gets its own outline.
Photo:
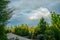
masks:
POLYGON ((42 17, 36 27, 27 24, 7 28, 13 9, 8 8, 9 0, 0 0, 0 40, 8 40, 6 34, 11 32, 36 40, 60 40, 60 14, 51 12, 51 25, 42 17))

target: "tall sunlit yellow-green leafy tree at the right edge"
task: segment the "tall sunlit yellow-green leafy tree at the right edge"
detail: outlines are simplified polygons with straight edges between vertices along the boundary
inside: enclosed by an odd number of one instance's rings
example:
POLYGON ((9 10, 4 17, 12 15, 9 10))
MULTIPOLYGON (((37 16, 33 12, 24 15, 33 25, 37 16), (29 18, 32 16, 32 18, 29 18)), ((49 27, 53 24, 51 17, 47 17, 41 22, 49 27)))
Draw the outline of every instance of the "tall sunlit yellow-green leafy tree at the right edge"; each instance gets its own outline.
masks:
POLYGON ((51 12, 52 16, 52 31, 56 40, 60 40, 60 14, 51 12))

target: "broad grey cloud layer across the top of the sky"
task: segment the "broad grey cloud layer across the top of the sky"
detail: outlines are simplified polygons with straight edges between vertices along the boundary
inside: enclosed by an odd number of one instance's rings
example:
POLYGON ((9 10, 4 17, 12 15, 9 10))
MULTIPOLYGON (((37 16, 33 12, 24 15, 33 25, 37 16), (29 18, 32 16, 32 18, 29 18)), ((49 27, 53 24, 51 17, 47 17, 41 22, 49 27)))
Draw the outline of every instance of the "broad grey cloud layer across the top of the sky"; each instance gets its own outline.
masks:
POLYGON ((9 8, 15 8, 15 13, 19 14, 23 10, 37 10, 40 7, 48 8, 50 11, 60 12, 58 6, 60 0, 10 0, 9 8))

